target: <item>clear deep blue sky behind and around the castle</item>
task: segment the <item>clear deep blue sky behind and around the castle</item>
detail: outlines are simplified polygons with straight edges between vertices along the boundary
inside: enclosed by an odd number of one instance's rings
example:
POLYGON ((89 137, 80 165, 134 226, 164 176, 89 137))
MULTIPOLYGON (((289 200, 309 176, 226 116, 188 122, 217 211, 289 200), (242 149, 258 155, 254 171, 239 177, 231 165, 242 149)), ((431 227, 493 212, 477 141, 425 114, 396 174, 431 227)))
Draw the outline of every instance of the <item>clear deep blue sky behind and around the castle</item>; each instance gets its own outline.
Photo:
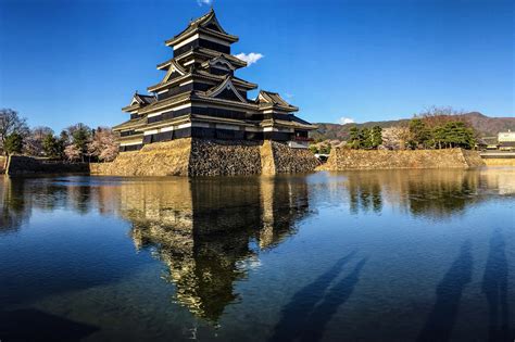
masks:
MULTIPOLYGON (((209 0, 0 0, 0 107, 60 130, 127 119, 163 76, 164 40, 209 0)), ((430 105, 515 116, 511 1, 214 0, 239 71, 311 122, 410 117, 430 105)), ((255 94, 255 93, 254 93, 255 94)))

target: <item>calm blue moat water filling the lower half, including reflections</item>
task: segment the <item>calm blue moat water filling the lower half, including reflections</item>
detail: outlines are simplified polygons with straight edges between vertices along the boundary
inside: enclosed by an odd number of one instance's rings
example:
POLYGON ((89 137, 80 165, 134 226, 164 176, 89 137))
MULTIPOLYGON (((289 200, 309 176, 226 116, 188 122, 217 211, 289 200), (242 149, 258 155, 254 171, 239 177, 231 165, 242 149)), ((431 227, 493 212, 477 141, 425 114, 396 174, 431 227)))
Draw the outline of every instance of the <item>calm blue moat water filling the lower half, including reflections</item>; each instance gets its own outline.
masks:
POLYGON ((0 180, 0 340, 513 341, 515 168, 0 180))

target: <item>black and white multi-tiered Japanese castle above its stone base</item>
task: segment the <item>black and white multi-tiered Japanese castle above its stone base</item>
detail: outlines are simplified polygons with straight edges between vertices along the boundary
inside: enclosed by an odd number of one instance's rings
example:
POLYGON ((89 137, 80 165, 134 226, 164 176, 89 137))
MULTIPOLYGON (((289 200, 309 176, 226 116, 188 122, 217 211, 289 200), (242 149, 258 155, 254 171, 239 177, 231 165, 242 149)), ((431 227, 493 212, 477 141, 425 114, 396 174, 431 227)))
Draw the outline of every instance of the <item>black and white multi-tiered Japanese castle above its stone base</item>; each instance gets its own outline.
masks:
POLYGON ((247 62, 231 55, 238 37, 226 33, 215 12, 191 21, 179 35, 166 40, 173 59, 158 65, 163 79, 148 87, 151 94, 135 93, 123 107, 130 119, 113 127, 120 150, 135 151, 160 141, 180 138, 273 140, 290 148, 306 148, 307 132, 316 126, 294 116, 299 109, 278 93, 235 76, 247 62))

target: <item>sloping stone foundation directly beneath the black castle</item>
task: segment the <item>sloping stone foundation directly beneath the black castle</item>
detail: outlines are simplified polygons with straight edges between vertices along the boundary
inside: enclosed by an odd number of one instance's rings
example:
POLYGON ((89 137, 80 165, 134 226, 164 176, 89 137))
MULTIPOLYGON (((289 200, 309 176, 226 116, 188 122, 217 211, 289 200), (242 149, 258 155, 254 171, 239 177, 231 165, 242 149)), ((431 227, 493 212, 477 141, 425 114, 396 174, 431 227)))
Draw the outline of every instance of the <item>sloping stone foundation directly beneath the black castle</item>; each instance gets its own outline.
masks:
POLYGON ((123 152, 112 163, 90 164, 90 173, 115 176, 275 175, 312 172, 318 164, 309 150, 291 149, 274 141, 185 138, 123 152))

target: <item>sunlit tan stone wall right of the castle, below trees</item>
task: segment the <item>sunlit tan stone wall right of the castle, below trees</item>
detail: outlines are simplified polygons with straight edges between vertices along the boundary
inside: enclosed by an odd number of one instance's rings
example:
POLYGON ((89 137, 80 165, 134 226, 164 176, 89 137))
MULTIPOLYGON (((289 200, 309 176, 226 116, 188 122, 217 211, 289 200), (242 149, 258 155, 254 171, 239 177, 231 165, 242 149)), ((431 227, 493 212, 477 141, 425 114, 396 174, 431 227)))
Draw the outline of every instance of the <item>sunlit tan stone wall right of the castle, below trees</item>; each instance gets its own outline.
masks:
POLYGON ((336 148, 321 169, 466 168, 483 165, 478 152, 462 149, 365 151, 336 148))

